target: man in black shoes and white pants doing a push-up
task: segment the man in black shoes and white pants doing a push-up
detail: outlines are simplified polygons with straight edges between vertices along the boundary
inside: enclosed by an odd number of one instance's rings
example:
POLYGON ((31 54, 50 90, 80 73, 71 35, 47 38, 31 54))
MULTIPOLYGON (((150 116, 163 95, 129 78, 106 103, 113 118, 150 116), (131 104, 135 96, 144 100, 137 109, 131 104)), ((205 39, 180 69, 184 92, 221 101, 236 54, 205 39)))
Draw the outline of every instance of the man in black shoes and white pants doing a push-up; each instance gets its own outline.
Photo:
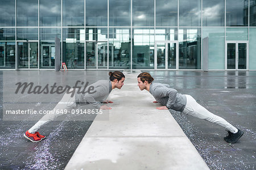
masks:
POLYGON ((154 96, 154 103, 160 103, 163 106, 156 109, 173 109, 193 117, 197 117, 209 122, 213 122, 224 127, 228 131, 224 140, 228 143, 236 143, 243 135, 243 131, 235 128, 229 122, 224 120, 207 109, 202 107, 190 95, 181 95, 168 84, 153 83, 154 78, 149 73, 141 73, 138 75, 138 86, 141 90, 146 89, 154 96))

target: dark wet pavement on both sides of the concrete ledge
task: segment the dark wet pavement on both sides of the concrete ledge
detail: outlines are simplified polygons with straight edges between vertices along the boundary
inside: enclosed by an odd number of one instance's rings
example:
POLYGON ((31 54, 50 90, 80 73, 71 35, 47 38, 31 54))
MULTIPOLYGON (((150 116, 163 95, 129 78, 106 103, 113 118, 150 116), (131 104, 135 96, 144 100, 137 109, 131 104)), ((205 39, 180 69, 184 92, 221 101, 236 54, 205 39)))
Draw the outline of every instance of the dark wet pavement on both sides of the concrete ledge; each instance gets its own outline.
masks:
MULTIPOLYGON (((245 132, 235 144, 229 145, 223 139, 226 131, 215 124, 190 116, 171 112, 187 137, 196 147, 210 169, 254 169, 256 150, 256 71, 147 71, 155 82, 168 83, 181 94, 193 96, 210 112, 225 118, 232 125, 245 132)), ((3 81, 13 84, 36 73, 38 82, 60 82, 74 84, 76 80, 90 84, 107 79, 108 71, 9 71, 12 78, 3 79, 0 71, 0 107, 2 109, 3 81), (26 77, 27 75, 27 77, 26 77)), ((4 73, 5 74, 5 73, 4 73)), ((11 96, 5 96, 10 99, 11 96)), ((36 109, 53 108, 62 95, 40 95, 45 104, 32 102, 30 95, 23 101, 30 101, 36 109), (49 100, 47 103, 47 100, 49 100)), ((18 99, 16 99, 18 100, 18 99)), ((35 99, 38 100, 38 99, 35 99)), ((0 120, 0 169, 64 169, 92 121, 53 121, 43 126, 40 133, 47 135, 44 141, 32 143, 23 133, 36 121, 0 120)))

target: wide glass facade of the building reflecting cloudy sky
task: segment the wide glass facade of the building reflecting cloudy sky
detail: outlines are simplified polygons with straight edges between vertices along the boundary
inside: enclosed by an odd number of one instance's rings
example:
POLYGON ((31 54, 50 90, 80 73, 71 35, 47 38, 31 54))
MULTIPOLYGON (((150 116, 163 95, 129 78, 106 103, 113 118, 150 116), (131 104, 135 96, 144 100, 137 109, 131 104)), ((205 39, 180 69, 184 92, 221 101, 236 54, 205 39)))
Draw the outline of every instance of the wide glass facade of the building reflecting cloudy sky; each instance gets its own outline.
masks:
POLYGON ((253 0, 2 0, 0 10, 0 69, 55 69, 57 37, 68 69, 201 70, 204 49, 209 70, 256 70, 253 0))

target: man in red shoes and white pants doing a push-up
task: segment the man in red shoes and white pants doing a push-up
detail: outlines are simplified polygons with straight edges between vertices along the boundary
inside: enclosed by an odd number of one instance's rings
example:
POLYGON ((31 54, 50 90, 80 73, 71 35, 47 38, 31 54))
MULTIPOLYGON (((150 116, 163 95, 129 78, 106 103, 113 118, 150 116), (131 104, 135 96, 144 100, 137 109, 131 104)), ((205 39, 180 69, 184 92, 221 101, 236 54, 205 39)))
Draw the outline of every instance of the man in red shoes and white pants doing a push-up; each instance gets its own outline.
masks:
MULTIPOLYGON (((110 80, 98 80, 96 83, 91 84, 86 88, 86 93, 76 93, 72 96, 72 93, 66 93, 56 107, 52 110, 52 114, 44 115, 32 128, 24 133, 24 137, 31 142, 40 142, 42 139, 46 138, 44 135, 40 135, 38 129, 46 125, 48 122, 55 120, 56 117, 60 116, 59 113, 69 113, 72 109, 77 108, 77 105, 90 104, 96 109, 111 109, 106 105, 101 105, 101 103, 113 103, 112 101, 106 100, 110 92, 114 88, 121 89, 123 82, 125 81, 125 75, 120 71, 109 72, 110 80), (88 88, 93 87, 94 92, 88 93, 88 88)), ((71 89, 72 91, 73 89, 71 89)))

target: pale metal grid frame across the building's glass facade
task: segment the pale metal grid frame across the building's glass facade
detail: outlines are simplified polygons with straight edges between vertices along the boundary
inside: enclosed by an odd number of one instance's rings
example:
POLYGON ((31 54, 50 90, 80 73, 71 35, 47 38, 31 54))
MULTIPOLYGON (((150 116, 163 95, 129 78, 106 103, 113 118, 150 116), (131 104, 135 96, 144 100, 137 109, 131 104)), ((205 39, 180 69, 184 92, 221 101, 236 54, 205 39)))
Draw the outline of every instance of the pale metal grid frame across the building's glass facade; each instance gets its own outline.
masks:
MULTIPOLYGON (((36 27, 18 27, 17 26, 17 15, 18 15, 18 11, 17 11, 17 1, 18 0, 15 0, 15 27, 3 27, 3 28, 15 28, 15 70, 19 70, 19 67, 18 67, 18 46, 17 46, 17 42, 21 42, 20 40, 17 40, 17 28, 38 28, 38 53, 40 54, 40 28, 60 28, 61 29, 61 62, 63 62, 63 28, 70 28, 70 27, 64 27, 63 26, 63 0, 60 0, 60 6, 61 6, 61 25, 58 26, 58 27, 41 27, 40 26, 40 0, 38 0, 38 25, 36 27)), ((43 0, 41 0, 43 1, 43 0)), ((106 27, 86 27, 86 0, 84 0, 84 26, 81 26, 81 27, 72 27, 72 28, 83 28, 86 30, 86 28, 107 28, 108 29, 108 39, 107 39, 107 42, 108 42, 108 70, 109 70, 109 31, 110 29, 109 28, 117 28, 117 26, 109 26, 109 1, 110 0, 107 0, 108 1, 108 25, 106 27)), ((162 28, 162 27, 156 27, 156 1, 158 0, 154 0, 154 38, 155 38, 155 31, 156 31, 156 28, 162 28)), ((178 31, 178 34, 179 34, 179 29, 180 28, 188 28, 188 27, 180 27, 179 25, 179 15, 180 15, 180 0, 177 0, 177 27, 163 27, 163 28, 177 28, 177 31, 178 31)), ((226 26, 226 7, 227 7, 227 0, 224 0, 224 27, 212 27, 212 28, 224 28, 224 43, 225 43, 225 46, 224 46, 224 51, 225 51, 225 56, 226 56, 226 43, 229 42, 226 40, 226 28, 236 28, 236 27, 227 27, 226 26)), ((248 14, 248 24, 247 26, 245 27, 239 27, 239 28, 247 28, 247 32, 248 32, 248 35, 247 35, 247 70, 249 70, 249 52, 250 52, 250 28, 256 28, 256 27, 250 27, 250 0, 248 0, 248 10, 247 10, 248 14)), ((209 28, 209 27, 203 27, 203 0, 201 0, 201 25, 200 27, 189 27, 189 28, 200 28, 201 29, 201 52, 200 52, 200 55, 201 55, 201 68, 203 66, 203 62, 202 62, 202 55, 203 55, 203 44, 202 44, 202 40, 203 40, 203 28, 209 28)), ((130 42, 131 42, 131 52, 130 52, 130 71, 133 70, 133 30, 135 28, 141 28, 141 26, 137 27, 137 26, 133 26, 133 0, 130 0, 130 26, 119 26, 118 28, 130 28, 130 42)), ((152 27, 143 27, 143 28, 152 28, 152 27)), ((177 40, 179 42, 179 40, 177 40)), ((179 50, 179 49, 177 49, 179 50)), ((179 57, 179 54, 178 56, 179 57)), ((40 57, 39 57, 40 59, 40 57)), ((154 63, 155 65, 155 63, 154 63)), ((224 70, 226 70, 226 61, 225 61, 225 66, 224 66, 224 70)), ((0 69, 0 70, 5 70, 5 69, 0 69)), ((40 61, 38 60, 38 70, 40 70, 40 61)), ((85 40, 85 46, 84 46, 84 70, 86 70, 86 40, 85 40)), ((179 68, 177 68, 177 70, 179 70, 179 68)), ((196 69, 196 70, 201 70, 201 69, 196 69)))

